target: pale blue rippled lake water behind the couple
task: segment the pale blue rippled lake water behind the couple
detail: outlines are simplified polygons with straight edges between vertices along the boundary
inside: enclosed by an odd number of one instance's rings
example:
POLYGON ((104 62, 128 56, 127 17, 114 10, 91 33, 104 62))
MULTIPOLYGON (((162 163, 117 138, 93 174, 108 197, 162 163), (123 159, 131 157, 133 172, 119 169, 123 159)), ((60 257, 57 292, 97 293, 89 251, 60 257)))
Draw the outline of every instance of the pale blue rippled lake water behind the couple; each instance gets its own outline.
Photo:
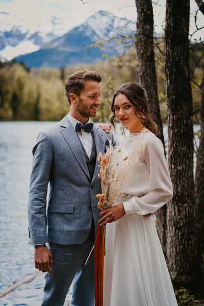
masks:
MULTIPOLYGON (((32 148, 37 135, 55 122, 0 122, 0 292, 36 273, 28 244, 27 202, 32 148)), ((164 130, 165 139, 167 131, 164 130)), ((117 133, 117 139, 120 132, 117 133)), ((40 305, 44 274, 0 298, 0 305, 40 305)), ((71 297, 67 295, 66 305, 71 297)))

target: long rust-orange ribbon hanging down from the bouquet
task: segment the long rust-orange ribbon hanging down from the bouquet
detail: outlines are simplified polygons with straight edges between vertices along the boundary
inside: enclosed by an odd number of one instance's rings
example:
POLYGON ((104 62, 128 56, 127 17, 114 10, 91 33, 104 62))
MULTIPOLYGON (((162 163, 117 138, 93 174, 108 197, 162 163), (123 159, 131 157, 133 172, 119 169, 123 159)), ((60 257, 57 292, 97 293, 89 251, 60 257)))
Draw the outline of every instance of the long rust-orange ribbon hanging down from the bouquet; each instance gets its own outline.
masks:
POLYGON ((104 289, 104 228, 98 223, 94 244, 95 306, 103 306, 104 289))

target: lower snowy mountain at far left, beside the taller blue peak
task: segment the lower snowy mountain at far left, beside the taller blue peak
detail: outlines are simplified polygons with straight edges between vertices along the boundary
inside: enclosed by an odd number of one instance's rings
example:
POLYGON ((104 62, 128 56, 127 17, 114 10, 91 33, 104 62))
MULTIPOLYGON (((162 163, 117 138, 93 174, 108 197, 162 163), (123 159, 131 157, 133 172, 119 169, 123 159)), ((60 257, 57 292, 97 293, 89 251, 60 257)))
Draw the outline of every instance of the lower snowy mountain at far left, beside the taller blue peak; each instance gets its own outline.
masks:
POLYGON ((0 12, 0 59, 11 60, 18 55, 39 50, 44 44, 67 33, 63 19, 50 16, 39 23, 25 25, 17 15, 0 12))

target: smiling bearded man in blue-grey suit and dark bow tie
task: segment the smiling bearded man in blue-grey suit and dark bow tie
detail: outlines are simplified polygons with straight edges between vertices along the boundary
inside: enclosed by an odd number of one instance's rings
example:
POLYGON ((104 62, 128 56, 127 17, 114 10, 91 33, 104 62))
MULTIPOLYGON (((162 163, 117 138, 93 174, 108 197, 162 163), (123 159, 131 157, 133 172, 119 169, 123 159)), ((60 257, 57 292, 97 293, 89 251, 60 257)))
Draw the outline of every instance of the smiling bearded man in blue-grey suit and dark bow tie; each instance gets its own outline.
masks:
POLYGON ((71 306, 94 304, 93 252, 85 262, 100 213, 95 197, 101 192, 97 156, 109 139, 114 141, 112 133, 89 119, 101 104, 101 80, 95 71, 70 75, 65 83, 69 114, 39 133, 33 148, 29 236, 35 245, 35 268, 48 272, 41 305, 64 305, 72 281, 71 306))

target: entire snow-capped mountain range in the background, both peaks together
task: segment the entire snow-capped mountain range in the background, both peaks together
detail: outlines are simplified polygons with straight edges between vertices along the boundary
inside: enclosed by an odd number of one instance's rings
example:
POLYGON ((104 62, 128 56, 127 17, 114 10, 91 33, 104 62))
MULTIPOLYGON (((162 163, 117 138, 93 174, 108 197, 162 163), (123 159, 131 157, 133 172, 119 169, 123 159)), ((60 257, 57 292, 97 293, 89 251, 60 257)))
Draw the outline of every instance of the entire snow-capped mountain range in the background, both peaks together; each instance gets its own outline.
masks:
MULTIPOLYGON (((100 39, 132 36, 136 30, 134 21, 114 16, 108 11, 99 11, 90 16, 79 27, 65 31, 63 20, 54 18, 45 22, 49 31, 24 32, 18 27, 10 31, 0 32, 0 56, 9 57, 12 48, 19 61, 23 60, 28 67, 63 67, 67 64, 85 64, 101 60, 103 54, 108 56, 123 52, 123 46, 116 40, 110 40, 103 50, 100 47, 86 48, 100 39), (64 33, 63 33, 64 31, 64 33), (63 34, 64 35, 63 35, 63 34), (24 51, 23 51, 24 50, 24 51), (28 52, 26 52, 28 50, 28 52), (23 53, 22 53, 23 52, 23 53)), ((1 30, 1 28, 0 28, 1 30)))

